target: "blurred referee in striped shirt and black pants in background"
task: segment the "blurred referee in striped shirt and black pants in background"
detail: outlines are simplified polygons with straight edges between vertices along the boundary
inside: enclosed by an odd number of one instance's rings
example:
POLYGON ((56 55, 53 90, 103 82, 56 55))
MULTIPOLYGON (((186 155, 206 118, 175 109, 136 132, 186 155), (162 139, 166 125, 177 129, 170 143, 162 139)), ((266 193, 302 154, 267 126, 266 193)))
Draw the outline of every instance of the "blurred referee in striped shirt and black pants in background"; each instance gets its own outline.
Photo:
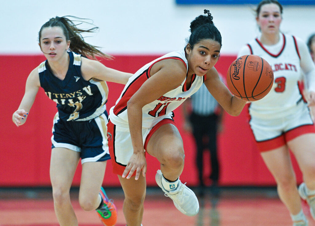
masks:
POLYGON ((212 182, 211 188, 213 191, 218 191, 219 162, 216 141, 217 129, 219 126, 221 127, 223 109, 204 84, 184 102, 182 109, 185 117, 184 130, 192 132, 197 145, 196 164, 201 188, 200 195, 203 195, 203 188, 205 187, 203 152, 206 149, 210 151, 211 174, 209 179, 212 182))

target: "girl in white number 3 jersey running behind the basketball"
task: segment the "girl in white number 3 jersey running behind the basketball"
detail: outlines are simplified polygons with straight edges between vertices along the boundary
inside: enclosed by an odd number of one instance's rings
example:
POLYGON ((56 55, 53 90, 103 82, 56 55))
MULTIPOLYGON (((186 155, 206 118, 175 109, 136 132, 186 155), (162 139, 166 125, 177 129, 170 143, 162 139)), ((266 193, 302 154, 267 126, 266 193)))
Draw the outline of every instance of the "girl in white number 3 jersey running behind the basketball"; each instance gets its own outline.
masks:
POLYGON ((282 10, 276 0, 259 3, 256 21, 261 35, 245 45, 238 57, 255 54, 272 66, 274 85, 262 100, 250 103, 249 124, 293 225, 306 226, 300 196, 307 200, 315 218, 315 127, 308 109, 315 105, 315 68, 306 44, 295 36, 280 33, 282 10), (307 103, 298 88, 301 72, 308 84, 307 103), (305 183, 299 191, 289 149, 303 173, 305 183))

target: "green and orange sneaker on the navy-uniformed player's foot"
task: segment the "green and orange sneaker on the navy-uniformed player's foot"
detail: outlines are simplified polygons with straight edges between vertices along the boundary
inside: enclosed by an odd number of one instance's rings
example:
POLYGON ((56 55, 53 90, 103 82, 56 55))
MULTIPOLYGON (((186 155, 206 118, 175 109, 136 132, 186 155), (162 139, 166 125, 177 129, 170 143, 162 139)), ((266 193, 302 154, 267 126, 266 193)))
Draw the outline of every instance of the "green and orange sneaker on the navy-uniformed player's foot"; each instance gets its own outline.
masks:
POLYGON ((96 209, 97 215, 105 226, 114 226, 117 222, 117 208, 112 199, 108 199, 104 188, 100 188, 102 206, 96 209))

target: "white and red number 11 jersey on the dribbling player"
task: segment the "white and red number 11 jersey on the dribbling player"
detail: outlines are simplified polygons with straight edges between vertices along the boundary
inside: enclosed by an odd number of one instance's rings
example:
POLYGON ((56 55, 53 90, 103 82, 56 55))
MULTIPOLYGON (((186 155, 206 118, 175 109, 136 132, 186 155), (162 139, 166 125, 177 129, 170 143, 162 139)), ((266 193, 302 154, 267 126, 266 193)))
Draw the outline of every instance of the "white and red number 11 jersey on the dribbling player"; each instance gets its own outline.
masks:
MULTIPOLYGON (((188 62, 185 57, 185 50, 170 52, 160 58, 153 60, 139 69, 125 85, 123 92, 118 98, 116 105, 110 109, 110 120, 113 124, 128 127, 128 115, 127 115, 127 102, 131 96, 140 88, 140 86, 150 78, 150 69, 158 61, 164 59, 178 59, 183 62, 186 66, 186 73, 188 72, 188 62)), ((168 75, 172 76, 170 71, 168 75)), ((157 98, 157 100, 145 105, 142 108, 142 127, 151 128, 161 119, 172 114, 186 98, 194 94, 206 79, 206 75, 197 76, 196 74, 192 77, 192 84, 190 88, 186 89, 186 79, 175 89, 165 93, 163 96, 157 98)), ((143 97, 145 98, 145 96, 143 97)))

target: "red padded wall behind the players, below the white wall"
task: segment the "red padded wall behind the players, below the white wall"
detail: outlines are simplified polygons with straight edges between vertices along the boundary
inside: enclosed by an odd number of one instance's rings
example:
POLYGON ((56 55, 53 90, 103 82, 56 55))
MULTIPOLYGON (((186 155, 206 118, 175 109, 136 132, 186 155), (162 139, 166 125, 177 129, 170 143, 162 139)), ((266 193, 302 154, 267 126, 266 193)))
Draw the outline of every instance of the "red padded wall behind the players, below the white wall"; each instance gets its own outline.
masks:
MULTIPOLYGON (((106 66, 134 73, 145 63, 159 55, 120 55, 114 60, 103 60, 106 66)), ((221 56, 216 69, 223 75, 236 56, 221 56)), ((24 95, 28 74, 45 58, 41 55, 0 55, 2 106, 0 134, 0 186, 50 186, 49 162, 51 151, 51 128, 55 103, 48 99, 43 89, 39 90, 27 122, 17 128, 12 122, 12 113, 18 108, 24 95)), ((109 100, 107 108, 114 105, 123 85, 108 83, 109 100)), ((181 109, 175 110, 175 122, 183 137, 185 148, 185 168, 181 180, 187 185, 197 185, 195 167, 195 144, 192 135, 182 130, 181 109)), ((220 184, 223 186, 274 186, 275 182, 258 153, 253 135, 247 122, 247 107, 238 117, 224 115, 224 130, 218 138, 219 160, 221 163, 220 184)), ((119 186, 112 166, 107 163, 105 186, 119 186)), ((297 179, 301 182, 301 172, 294 162, 297 179)), ((147 155, 147 184, 156 186, 154 179, 159 168, 157 160, 147 155)), ((209 169, 209 166, 205 166, 209 169)), ((80 183, 81 165, 75 174, 73 185, 80 183)))

